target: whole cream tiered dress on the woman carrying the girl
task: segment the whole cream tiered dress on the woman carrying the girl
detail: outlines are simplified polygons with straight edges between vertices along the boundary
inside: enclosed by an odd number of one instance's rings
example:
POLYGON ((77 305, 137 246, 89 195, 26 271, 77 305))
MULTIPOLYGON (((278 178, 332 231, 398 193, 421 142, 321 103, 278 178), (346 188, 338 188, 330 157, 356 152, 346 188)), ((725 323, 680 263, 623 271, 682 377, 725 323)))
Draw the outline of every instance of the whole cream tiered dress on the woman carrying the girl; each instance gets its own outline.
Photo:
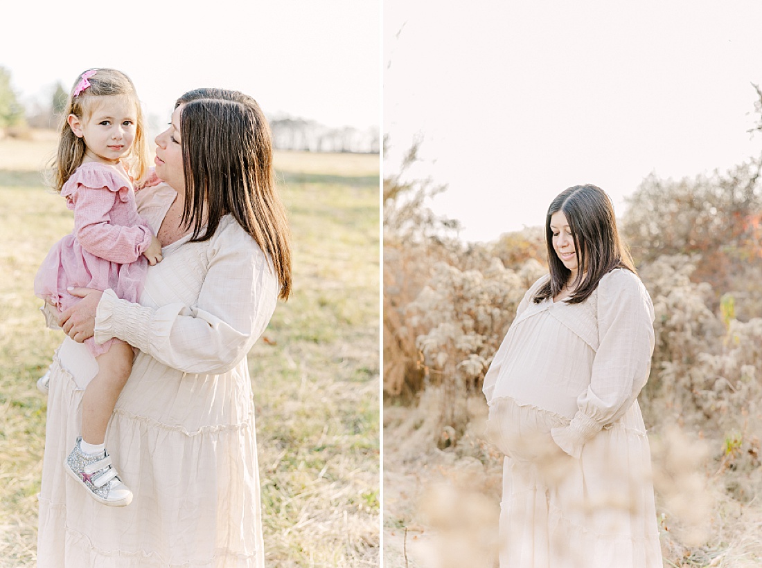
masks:
MULTIPOLYGON (((138 193, 158 230, 174 190, 138 193)), ((63 471, 98 370, 66 338, 53 361, 40 493, 40 568, 262 568, 254 404, 246 355, 273 314, 271 263, 229 215, 213 237, 181 239, 151 266, 139 304, 104 293, 97 341, 139 349, 106 448, 134 493, 97 503, 63 471)))

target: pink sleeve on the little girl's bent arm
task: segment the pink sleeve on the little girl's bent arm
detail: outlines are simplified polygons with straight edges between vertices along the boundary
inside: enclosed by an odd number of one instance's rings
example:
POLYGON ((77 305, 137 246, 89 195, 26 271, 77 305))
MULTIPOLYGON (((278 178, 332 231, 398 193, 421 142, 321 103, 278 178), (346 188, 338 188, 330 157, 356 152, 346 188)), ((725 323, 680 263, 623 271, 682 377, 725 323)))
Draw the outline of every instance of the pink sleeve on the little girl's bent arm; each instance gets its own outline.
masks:
POLYGON ((140 225, 114 225, 110 211, 120 199, 120 188, 79 185, 71 194, 74 204, 74 235, 82 248, 96 257, 129 264, 139 259, 151 244, 151 229, 140 225))

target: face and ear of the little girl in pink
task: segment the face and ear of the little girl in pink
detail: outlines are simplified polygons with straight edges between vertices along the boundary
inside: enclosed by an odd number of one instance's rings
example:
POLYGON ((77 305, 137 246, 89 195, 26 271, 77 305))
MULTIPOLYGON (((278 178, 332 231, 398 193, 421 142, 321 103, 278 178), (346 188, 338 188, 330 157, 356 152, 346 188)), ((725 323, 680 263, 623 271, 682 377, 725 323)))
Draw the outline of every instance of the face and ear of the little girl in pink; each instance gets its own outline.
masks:
POLYGON ((70 114, 69 127, 85 140, 85 160, 116 164, 135 141, 137 109, 128 97, 99 97, 85 120, 70 114))

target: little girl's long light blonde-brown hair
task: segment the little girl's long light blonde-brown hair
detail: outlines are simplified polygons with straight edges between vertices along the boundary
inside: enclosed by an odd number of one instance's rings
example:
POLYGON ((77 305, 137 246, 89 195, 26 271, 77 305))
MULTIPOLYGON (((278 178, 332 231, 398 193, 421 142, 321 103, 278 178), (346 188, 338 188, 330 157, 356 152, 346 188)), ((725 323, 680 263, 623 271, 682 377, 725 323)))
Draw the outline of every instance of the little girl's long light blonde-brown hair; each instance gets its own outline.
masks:
POLYGON ((72 90, 69 91, 69 101, 67 101, 66 110, 61 116, 58 152, 53 163, 53 179, 51 180, 51 185, 58 192, 61 191, 63 184, 69 180, 75 170, 82 165, 82 159, 85 158, 85 140, 75 136, 72 132, 68 122, 69 115, 73 114, 82 121, 88 120, 98 104, 99 97, 127 97, 130 102, 135 104, 135 140, 130 152, 125 156, 125 165, 127 171, 136 181, 146 177, 148 173, 149 151, 146 129, 133 81, 130 81, 129 77, 116 69, 96 68, 88 69, 88 71, 95 72, 87 79, 90 86, 75 96, 74 92, 77 85, 82 81, 83 74, 80 74, 72 85, 72 90))

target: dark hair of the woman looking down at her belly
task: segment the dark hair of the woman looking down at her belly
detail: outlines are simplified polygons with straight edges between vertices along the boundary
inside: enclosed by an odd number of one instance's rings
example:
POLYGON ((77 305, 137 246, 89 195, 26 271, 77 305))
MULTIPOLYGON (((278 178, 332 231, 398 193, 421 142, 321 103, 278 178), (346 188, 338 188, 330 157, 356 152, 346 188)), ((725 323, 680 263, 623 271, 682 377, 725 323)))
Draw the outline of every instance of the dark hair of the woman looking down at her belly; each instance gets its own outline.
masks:
POLYGON ((604 190, 594 185, 569 187, 553 199, 545 219, 545 244, 548 251, 550 279, 536 293, 535 303, 559 295, 565 285, 574 285, 575 291, 568 298, 569 304, 588 299, 600 279, 615 268, 626 268, 636 273, 629 250, 616 229, 616 217, 611 199, 604 190), (577 278, 568 282, 571 270, 562 263, 553 248, 553 231, 550 218, 563 212, 574 238, 577 252, 577 278))

